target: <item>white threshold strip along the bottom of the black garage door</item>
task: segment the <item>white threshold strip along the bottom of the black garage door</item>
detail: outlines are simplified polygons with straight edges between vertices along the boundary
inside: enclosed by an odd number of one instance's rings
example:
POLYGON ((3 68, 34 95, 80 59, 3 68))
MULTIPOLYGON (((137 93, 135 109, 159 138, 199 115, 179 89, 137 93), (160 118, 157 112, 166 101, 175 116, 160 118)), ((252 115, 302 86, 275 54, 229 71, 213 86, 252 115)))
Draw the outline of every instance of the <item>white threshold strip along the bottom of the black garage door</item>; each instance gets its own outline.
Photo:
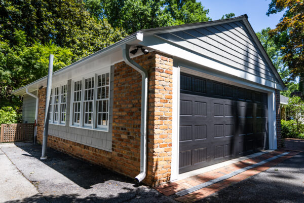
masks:
POLYGON ((213 171, 217 168, 224 167, 224 166, 227 166, 227 165, 230 165, 230 164, 233 164, 233 163, 237 163, 239 161, 244 161, 246 159, 254 158, 254 157, 260 156, 262 154, 267 154, 267 153, 272 152, 272 151, 273 150, 265 150, 265 151, 257 152, 257 153, 250 154, 250 155, 247 155, 247 156, 242 156, 240 158, 235 158, 235 159, 232 159, 232 160, 216 163, 214 165, 209 165, 209 166, 199 168, 199 169, 194 170, 194 171, 179 174, 178 179, 176 179, 174 181, 178 181, 178 180, 181 180, 181 179, 185 179, 185 178, 188 178, 188 177, 192 177, 192 176, 203 174, 203 173, 206 173, 206 172, 209 172, 209 171, 213 171))

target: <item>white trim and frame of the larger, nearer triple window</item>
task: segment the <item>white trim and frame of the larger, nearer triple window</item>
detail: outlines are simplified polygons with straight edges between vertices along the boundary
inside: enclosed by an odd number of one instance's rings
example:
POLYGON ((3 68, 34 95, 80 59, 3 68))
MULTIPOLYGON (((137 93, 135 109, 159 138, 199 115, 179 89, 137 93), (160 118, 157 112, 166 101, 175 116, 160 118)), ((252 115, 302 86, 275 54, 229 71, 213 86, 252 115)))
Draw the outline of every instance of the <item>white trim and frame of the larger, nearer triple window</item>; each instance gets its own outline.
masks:
POLYGON ((81 129, 89 129, 89 130, 96 130, 96 131, 104 131, 104 132, 108 132, 109 131, 109 115, 110 115, 110 111, 109 111, 109 106, 110 106, 110 88, 111 88, 111 71, 110 71, 110 67, 108 67, 107 69, 97 72, 97 73, 90 73, 87 75, 84 75, 83 77, 78 77, 78 78, 73 78, 71 81, 71 98, 70 98, 70 119, 69 119, 69 126, 70 127, 75 127, 75 128, 81 128, 81 129), (108 121, 107 121, 107 125, 103 126, 103 127, 99 127, 99 125, 97 126, 96 123, 96 118, 97 118, 97 110, 96 110, 96 98, 97 98, 97 79, 99 75, 102 74, 109 74, 109 97, 108 97, 108 121), (92 125, 91 126, 85 126, 84 125, 84 90, 85 90, 85 79, 87 78, 91 78, 94 77, 94 99, 93 99, 93 115, 92 115, 92 125), (82 81, 82 89, 81 89, 81 112, 80 112, 80 125, 75 125, 73 124, 73 100, 74 100, 74 82, 77 82, 81 80, 82 81))

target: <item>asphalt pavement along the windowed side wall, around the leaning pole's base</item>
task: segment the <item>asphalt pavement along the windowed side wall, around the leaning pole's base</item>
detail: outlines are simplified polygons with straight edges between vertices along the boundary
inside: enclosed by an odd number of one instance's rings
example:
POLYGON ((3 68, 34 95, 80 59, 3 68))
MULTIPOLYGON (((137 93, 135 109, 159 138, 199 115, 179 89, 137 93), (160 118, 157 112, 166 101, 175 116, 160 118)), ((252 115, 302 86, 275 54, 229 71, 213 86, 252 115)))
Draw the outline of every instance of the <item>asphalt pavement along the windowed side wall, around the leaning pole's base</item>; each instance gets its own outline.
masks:
POLYGON ((6 202, 174 202, 157 190, 106 168, 50 148, 49 158, 42 161, 41 145, 15 145, 0 145, 0 150, 39 193, 6 202))

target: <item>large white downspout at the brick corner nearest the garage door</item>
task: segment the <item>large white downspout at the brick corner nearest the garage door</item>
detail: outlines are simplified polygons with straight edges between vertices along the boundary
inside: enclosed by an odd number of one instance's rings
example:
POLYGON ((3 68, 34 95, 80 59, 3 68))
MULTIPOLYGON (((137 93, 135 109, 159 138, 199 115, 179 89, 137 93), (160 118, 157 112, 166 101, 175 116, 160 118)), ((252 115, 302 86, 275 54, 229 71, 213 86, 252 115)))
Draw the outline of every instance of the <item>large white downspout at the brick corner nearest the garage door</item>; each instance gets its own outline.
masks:
POLYGON ((123 58, 128 65, 141 74, 140 173, 135 177, 138 182, 141 182, 146 176, 148 72, 130 58, 130 47, 127 44, 122 45, 123 58))

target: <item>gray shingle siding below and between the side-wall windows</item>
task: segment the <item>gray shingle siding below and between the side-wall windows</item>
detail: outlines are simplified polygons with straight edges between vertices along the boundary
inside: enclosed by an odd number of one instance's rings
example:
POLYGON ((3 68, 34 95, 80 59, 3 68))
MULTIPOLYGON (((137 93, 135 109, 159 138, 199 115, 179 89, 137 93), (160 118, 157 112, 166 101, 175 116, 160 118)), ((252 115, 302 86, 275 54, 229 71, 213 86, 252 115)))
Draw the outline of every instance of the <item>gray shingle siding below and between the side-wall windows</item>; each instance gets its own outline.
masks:
POLYGON ((112 122, 113 122, 113 85, 114 66, 111 66, 110 74, 110 106, 109 106, 109 131, 98 131, 84 128, 70 127, 70 101, 71 101, 71 80, 67 82, 67 102, 65 125, 49 125, 49 134, 65 140, 81 143, 98 149, 112 150, 112 122))

